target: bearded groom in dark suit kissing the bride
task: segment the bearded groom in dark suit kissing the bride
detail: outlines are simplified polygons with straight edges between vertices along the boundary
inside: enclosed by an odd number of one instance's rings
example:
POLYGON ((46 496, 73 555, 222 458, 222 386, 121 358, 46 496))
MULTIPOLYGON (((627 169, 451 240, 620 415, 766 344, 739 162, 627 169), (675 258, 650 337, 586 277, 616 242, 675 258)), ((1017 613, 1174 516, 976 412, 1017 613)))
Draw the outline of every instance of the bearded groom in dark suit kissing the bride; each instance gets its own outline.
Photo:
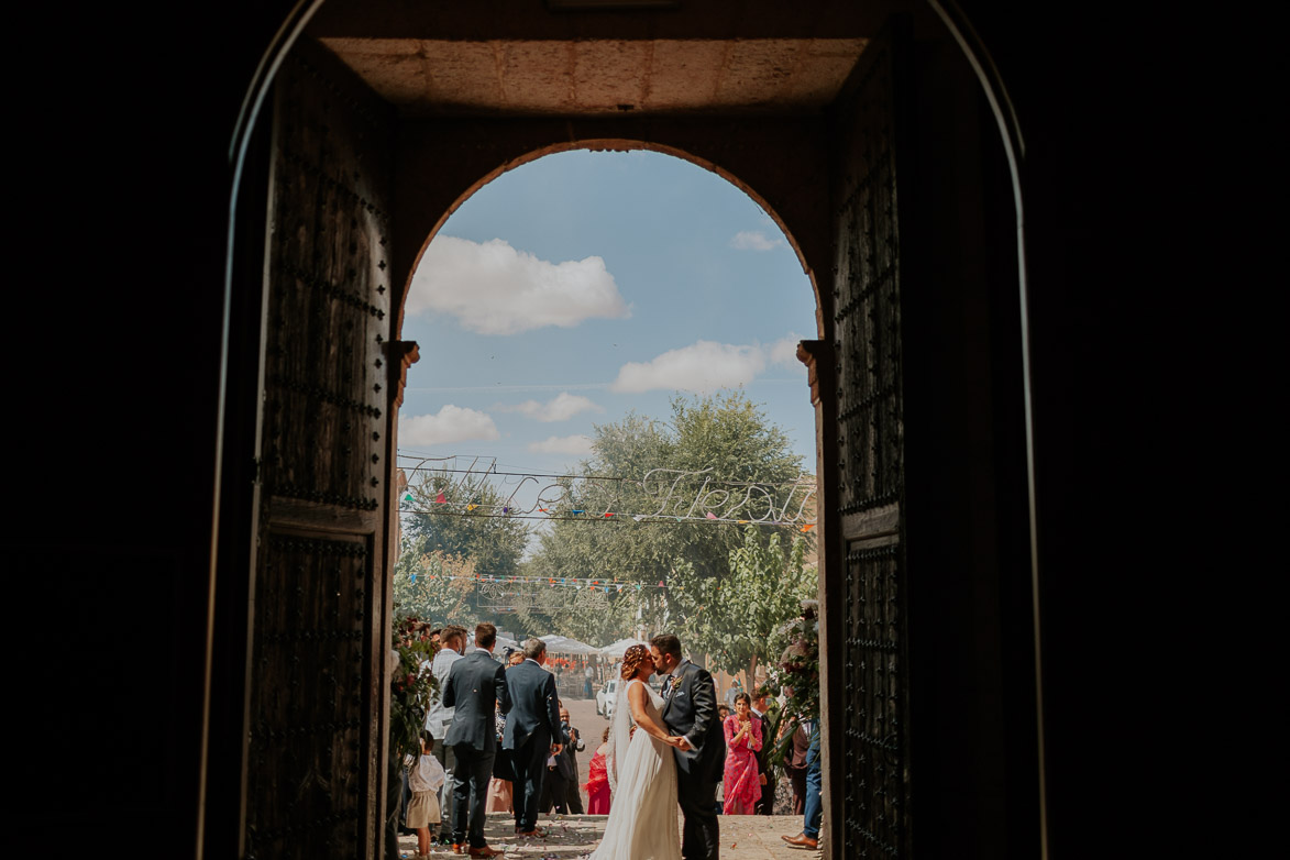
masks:
POLYGON ((663 677, 663 723, 685 745, 676 757, 677 799, 685 814, 681 856, 717 860, 717 779, 725 762, 725 738, 717 719, 712 676, 681 658, 681 640, 662 633, 649 641, 654 670, 663 677))

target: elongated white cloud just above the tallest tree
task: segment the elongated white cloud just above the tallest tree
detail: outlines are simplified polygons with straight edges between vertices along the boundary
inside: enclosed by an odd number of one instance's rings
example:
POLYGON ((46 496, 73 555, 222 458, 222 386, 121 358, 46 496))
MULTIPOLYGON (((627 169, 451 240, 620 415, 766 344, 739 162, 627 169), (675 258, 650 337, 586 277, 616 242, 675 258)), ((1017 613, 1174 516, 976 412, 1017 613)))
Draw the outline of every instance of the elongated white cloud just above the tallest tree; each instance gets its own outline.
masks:
POLYGON ((759 346, 740 347, 698 340, 694 346, 664 352, 653 361, 623 365, 610 389, 708 393, 752 382, 765 369, 765 351, 759 346))

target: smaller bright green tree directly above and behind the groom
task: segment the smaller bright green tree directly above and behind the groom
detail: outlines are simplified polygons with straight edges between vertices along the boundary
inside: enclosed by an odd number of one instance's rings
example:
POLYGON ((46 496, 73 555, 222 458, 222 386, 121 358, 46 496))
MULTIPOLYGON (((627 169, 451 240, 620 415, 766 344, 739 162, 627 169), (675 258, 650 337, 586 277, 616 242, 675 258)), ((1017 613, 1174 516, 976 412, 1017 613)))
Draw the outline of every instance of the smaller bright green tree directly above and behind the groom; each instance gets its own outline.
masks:
POLYGON ((708 667, 756 676, 757 665, 774 663, 775 632, 801 614, 801 602, 818 593, 817 570, 805 563, 806 542, 795 538, 787 556, 780 536, 762 540, 747 526, 743 544, 730 553, 729 570, 703 576, 680 563, 668 579, 670 601, 681 641, 708 655, 708 667))

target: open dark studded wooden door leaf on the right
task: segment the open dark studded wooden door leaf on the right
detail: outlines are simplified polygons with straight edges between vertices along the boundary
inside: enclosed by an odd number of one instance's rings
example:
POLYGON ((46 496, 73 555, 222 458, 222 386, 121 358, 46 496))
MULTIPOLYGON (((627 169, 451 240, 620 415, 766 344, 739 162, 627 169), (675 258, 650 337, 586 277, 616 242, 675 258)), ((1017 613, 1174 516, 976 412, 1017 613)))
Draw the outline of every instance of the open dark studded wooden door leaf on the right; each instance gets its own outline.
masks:
MULTIPOLYGON (((826 594, 833 857, 909 847, 899 139, 894 48, 876 40, 835 104, 836 500, 826 594), (836 656, 835 656, 836 655, 836 656)), ((835 392, 824 392, 824 396, 835 392)), ((826 413, 828 415, 828 413, 826 413)), ((828 433, 826 432, 826 438, 828 433)), ((831 478, 826 478, 831 480, 831 478)))

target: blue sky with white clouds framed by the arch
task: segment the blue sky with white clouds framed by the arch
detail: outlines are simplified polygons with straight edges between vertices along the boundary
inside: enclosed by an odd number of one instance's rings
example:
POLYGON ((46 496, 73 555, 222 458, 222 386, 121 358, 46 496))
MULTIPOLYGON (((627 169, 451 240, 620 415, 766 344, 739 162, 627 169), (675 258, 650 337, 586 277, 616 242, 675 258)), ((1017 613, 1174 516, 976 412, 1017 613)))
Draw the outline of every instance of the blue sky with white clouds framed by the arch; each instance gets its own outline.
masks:
POLYGON ((813 468, 792 351, 814 337, 810 281, 742 191, 654 152, 550 155, 463 202, 413 276, 400 464, 566 473, 595 424, 742 387, 813 468))

